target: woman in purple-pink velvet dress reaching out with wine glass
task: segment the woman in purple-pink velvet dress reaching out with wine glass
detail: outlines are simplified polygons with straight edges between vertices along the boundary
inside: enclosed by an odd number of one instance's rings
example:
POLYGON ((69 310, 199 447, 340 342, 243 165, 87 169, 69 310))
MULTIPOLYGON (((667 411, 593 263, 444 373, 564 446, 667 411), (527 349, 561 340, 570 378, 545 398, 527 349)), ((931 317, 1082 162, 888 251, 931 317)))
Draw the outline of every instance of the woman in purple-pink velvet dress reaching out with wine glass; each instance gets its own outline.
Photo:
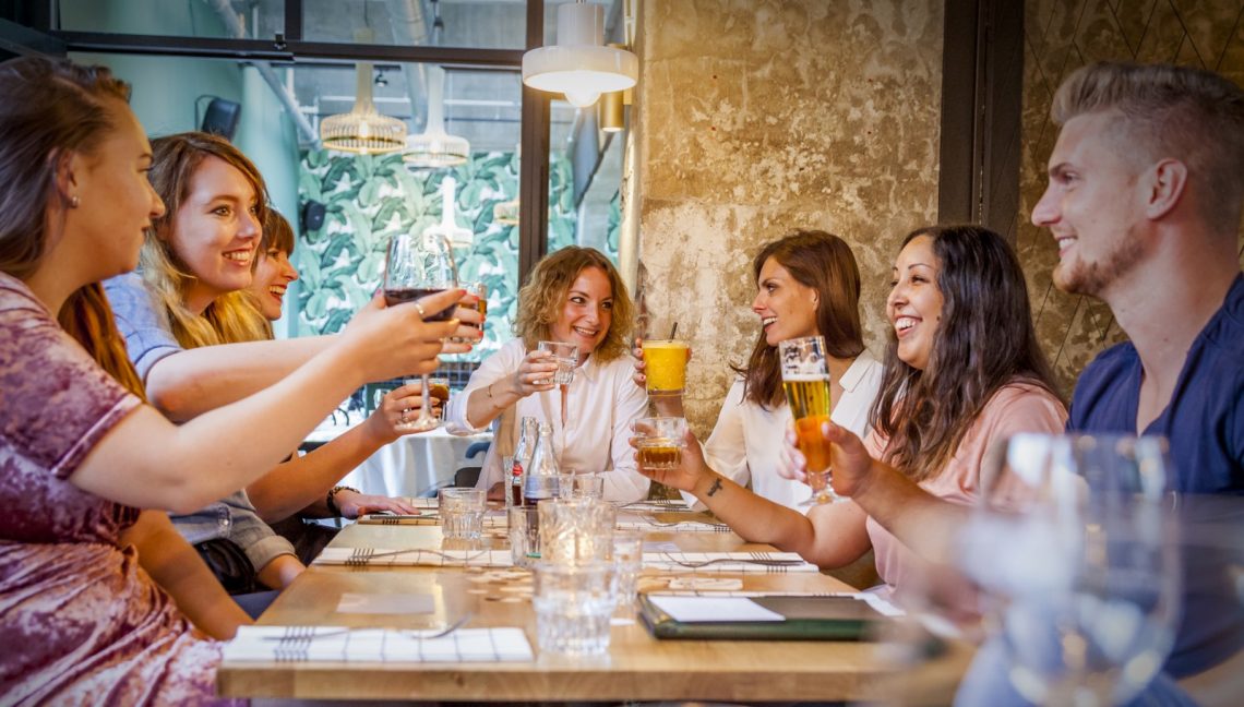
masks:
POLYGON ((381 309, 271 387, 170 423, 144 403, 100 286, 134 269, 164 213, 128 93, 103 67, 0 65, 4 703, 213 700, 209 637, 246 616, 164 510, 241 488, 364 381, 430 372, 459 334, 381 309))

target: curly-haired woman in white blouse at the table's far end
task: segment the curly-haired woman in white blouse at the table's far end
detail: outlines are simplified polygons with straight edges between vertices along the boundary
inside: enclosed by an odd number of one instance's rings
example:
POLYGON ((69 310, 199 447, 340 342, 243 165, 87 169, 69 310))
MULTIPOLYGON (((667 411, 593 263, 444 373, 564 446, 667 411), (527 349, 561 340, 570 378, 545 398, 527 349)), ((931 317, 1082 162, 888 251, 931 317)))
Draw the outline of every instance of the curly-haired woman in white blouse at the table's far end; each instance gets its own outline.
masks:
MULTIPOLYGON (((536 264, 519 293, 518 337, 506 342, 471 375, 445 416, 450 429, 478 429, 511 410, 515 419, 535 417, 552 426, 554 448, 562 472, 603 472, 605 498, 632 502, 648 493, 648 479, 636 469, 628 444, 631 423, 647 408, 633 372, 627 340, 634 305, 613 264, 591 248, 565 248, 536 264), (540 341, 578 347, 578 367, 567 386, 551 382, 557 366, 540 341)), ((511 436, 518 426, 499 434, 511 436)), ((778 437, 780 439, 780 434, 778 437)), ((498 439, 484 458, 479 488, 499 497, 508 480, 498 439)))

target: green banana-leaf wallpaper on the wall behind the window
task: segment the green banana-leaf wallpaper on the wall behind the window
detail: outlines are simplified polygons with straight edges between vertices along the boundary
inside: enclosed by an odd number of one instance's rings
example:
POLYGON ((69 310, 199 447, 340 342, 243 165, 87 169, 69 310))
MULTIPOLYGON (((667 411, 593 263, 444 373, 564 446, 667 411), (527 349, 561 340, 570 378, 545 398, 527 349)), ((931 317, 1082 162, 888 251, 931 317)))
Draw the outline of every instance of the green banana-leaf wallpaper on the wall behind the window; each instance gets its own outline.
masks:
MULTIPOLYGON (((575 240, 571 166, 565 153, 550 156, 549 250, 575 240)), ((299 336, 340 331, 381 286, 388 238, 440 222, 440 183, 453 176, 459 227, 475 234, 466 253, 458 249, 463 281, 488 285, 484 342, 469 360, 480 360, 513 336, 518 306, 518 238, 514 225, 495 223, 493 208, 519 192, 519 162, 513 152, 479 152, 450 169, 412 172, 401 156, 348 156, 307 151, 302 156, 299 200, 325 204, 323 227, 302 233, 294 254, 302 286, 297 297, 299 336)), ((611 219, 611 258, 617 258, 611 219)))

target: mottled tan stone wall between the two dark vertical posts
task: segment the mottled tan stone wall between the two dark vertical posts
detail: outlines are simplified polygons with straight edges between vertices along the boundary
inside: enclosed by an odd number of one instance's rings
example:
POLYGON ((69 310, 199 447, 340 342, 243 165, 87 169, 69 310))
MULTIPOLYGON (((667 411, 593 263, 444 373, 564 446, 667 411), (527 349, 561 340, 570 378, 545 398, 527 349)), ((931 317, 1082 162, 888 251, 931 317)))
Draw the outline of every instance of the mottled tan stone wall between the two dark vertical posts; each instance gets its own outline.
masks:
POLYGON ((694 349, 712 429, 759 334, 750 260, 805 227, 846 239, 881 354, 897 245, 937 215, 942 1, 644 0, 633 210, 654 336, 694 349))

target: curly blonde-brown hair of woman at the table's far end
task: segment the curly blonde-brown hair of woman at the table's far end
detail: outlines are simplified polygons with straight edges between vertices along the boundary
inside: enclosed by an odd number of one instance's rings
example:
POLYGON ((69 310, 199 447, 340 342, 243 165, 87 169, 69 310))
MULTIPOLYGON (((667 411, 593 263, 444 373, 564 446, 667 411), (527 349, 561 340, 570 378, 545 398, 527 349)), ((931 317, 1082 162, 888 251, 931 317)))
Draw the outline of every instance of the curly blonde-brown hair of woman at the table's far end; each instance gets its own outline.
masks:
POLYGON ((600 268, 613 290, 613 319, 605 340, 596 347, 598 361, 613 361, 631 351, 627 337, 634 327, 634 304, 617 268, 600 250, 571 245, 551 253, 531 270, 527 284, 519 290, 519 315, 514 330, 527 350, 534 351, 549 339, 552 325, 561 315, 561 305, 575 279, 586 268, 600 268))

